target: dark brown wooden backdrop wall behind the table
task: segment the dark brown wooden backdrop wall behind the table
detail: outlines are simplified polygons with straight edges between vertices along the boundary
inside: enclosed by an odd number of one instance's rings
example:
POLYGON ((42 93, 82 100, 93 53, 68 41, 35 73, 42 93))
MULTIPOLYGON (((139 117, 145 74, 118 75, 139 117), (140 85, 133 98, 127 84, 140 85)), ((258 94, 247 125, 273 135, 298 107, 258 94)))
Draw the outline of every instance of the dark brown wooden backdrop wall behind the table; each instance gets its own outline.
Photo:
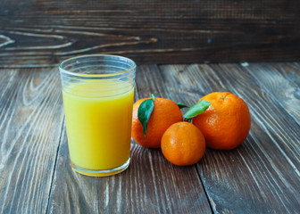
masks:
POLYGON ((0 67, 113 53, 137 63, 300 59, 300 1, 0 1, 0 67))

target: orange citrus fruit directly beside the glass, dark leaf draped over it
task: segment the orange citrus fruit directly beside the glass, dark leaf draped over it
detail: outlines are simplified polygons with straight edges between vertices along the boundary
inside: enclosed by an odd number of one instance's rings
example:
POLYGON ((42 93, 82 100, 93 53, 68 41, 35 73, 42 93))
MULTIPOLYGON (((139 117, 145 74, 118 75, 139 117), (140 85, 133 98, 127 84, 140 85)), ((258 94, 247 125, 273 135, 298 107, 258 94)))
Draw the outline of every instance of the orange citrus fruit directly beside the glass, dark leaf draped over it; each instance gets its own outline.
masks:
POLYGON ((131 136, 137 144, 149 148, 160 148, 163 133, 171 124, 182 121, 182 113, 177 103, 167 98, 156 97, 154 109, 147 123, 146 136, 144 136, 137 111, 140 104, 147 99, 152 98, 140 99, 133 104, 131 136))

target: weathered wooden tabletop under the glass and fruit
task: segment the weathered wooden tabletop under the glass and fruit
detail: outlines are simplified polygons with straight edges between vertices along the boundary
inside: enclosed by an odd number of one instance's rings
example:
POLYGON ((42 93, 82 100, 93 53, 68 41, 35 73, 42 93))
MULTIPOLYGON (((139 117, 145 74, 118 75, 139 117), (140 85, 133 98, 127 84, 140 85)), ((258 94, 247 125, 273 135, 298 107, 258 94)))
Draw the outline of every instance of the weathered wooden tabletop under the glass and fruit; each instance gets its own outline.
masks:
POLYGON ((0 213, 299 213, 299 79, 297 62, 138 66, 136 99, 228 90, 250 134, 191 167, 132 142, 129 169, 93 178, 71 170, 58 71, 0 70, 0 213))

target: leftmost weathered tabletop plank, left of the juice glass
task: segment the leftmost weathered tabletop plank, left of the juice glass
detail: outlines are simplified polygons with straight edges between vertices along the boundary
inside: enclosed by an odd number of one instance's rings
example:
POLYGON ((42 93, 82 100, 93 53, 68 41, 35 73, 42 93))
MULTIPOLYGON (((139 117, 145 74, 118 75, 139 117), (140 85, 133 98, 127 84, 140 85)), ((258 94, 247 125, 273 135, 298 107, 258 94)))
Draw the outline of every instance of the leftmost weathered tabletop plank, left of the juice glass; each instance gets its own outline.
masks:
POLYGON ((56 70, 0 70, 0 213, 45 213, 63 128, 56 70))

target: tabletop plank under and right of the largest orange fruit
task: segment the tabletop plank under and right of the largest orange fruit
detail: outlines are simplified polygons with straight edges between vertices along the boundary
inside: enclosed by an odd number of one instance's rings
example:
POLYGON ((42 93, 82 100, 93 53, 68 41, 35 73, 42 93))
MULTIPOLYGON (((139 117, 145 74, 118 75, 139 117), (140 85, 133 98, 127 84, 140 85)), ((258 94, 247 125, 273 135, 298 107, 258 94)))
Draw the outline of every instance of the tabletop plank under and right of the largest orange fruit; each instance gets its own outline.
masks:
MULTIPOLYGON (((207 149, 197 164, 213 212, 299 212, 300 128, 273 94, 237 64, 160 69, 171 97, 191 104, 212 91, 230 91, 249 105, 252 128, 246 142, 232 151, 207 149)), ((266 86, 278 79, 276 72, 271 77, 260 71, 266 86)))

